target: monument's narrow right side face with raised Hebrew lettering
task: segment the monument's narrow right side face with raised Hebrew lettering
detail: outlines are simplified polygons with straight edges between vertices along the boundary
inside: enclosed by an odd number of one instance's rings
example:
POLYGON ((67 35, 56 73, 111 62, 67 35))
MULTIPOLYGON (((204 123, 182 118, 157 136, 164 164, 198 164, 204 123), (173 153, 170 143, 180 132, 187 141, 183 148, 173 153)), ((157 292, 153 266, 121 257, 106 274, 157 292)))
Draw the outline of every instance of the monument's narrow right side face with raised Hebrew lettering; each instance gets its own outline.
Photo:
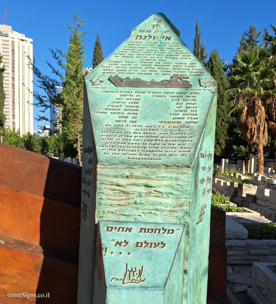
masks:
POLYGON ((216 99, 192 165, 187 285, 184 303, 206 303, 216 99), (196 274, 196 275, 195 275, 196 274))

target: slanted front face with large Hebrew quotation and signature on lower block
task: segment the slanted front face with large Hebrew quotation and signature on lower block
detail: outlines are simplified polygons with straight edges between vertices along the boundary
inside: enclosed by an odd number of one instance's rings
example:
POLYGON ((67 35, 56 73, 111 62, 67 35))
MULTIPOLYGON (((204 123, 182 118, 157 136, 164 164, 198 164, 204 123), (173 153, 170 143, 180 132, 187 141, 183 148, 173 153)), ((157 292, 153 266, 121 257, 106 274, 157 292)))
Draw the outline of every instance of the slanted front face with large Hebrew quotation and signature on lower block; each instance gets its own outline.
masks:
POLYGON ((154 272, 160 272, 159 259, 169 273, 178 243, 184 237, 181 224, 100 220, 99 229, 106 279, 114 286, 153 282, 154 272), (157 263, 154 267, 152 258, 157 263))

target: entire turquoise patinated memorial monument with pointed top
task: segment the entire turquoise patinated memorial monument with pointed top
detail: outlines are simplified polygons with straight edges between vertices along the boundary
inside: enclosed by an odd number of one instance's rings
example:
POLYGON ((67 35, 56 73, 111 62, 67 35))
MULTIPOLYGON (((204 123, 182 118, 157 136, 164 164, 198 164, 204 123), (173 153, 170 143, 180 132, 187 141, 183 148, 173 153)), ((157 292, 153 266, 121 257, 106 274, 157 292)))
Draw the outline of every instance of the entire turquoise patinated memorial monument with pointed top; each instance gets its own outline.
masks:
POLYGON ((216 91, 160 13, 86 76, 78 304, 206 303, 216 91))

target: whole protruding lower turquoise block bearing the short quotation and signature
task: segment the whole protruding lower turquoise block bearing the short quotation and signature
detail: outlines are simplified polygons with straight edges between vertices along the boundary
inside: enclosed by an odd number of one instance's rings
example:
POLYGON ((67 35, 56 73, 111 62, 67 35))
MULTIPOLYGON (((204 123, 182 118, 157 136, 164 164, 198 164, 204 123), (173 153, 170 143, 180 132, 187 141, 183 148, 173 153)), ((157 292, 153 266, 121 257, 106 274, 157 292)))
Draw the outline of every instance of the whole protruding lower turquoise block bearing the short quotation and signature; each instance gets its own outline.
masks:
POLYGON ((184 225, 99 221, 94 303, 182 303, 184 225))

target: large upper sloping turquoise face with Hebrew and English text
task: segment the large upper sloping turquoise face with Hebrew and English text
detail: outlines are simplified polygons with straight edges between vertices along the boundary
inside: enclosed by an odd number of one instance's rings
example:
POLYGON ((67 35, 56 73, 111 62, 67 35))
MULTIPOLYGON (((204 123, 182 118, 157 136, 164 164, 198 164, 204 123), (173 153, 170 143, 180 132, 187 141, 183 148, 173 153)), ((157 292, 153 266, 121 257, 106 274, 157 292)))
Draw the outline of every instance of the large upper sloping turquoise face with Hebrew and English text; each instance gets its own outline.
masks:
POLYGON ((153 163, 192 158, 204 125, 199 112, 207 113, 204 100, 215 91, 205 72, 171 28, 139 29, 89 79, 101 99, 91 115, 97 126, 104 122, 98 155, 153 163))

